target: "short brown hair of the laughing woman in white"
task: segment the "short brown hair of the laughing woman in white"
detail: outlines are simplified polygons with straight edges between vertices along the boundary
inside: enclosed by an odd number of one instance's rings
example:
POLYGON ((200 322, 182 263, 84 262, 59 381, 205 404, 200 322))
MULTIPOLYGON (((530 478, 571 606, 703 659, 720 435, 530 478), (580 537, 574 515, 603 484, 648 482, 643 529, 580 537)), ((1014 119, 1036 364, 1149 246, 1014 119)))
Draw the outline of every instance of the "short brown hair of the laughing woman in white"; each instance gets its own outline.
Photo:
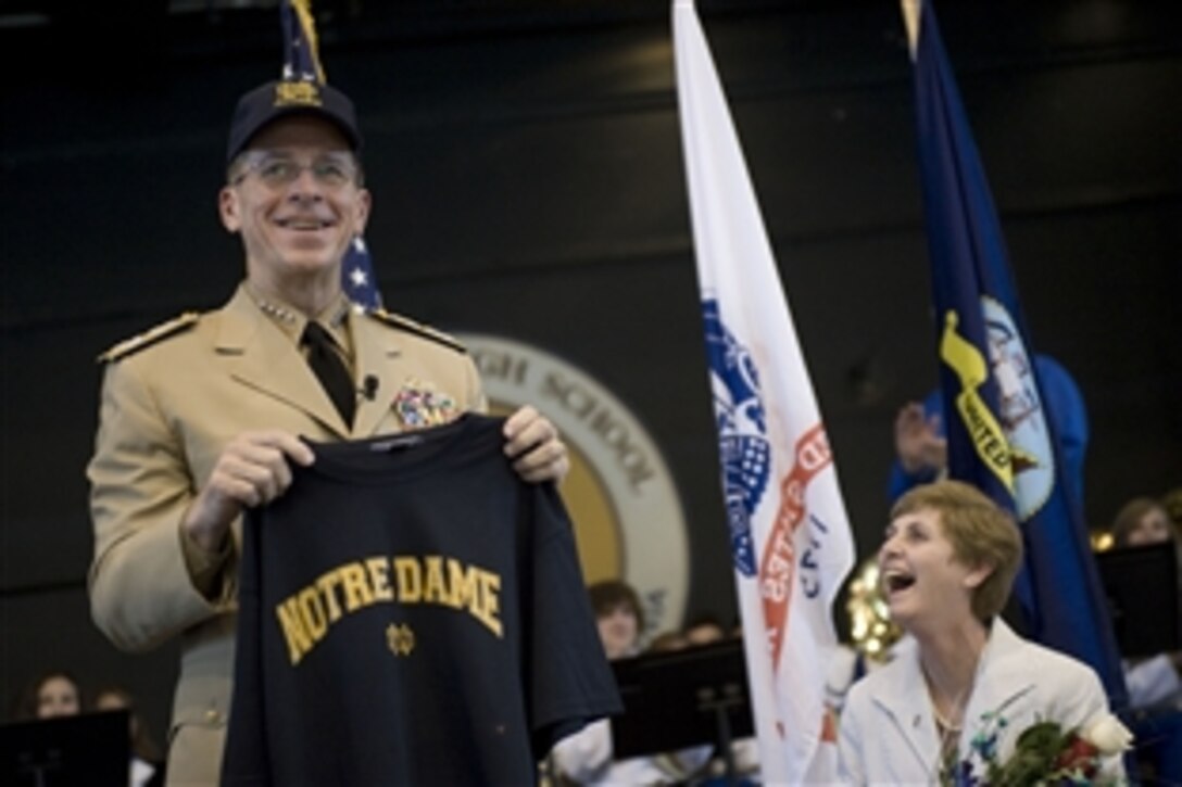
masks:
POLYGON ((993 566, 973 593, 973 614, 988 623, 1001 612, 1022 559, 1022 536, 1009 512, 963 481, 936 481, 915 487, 891 507, 891 521, 917 510, 940 514, 940 526, 957 562, 993 566))

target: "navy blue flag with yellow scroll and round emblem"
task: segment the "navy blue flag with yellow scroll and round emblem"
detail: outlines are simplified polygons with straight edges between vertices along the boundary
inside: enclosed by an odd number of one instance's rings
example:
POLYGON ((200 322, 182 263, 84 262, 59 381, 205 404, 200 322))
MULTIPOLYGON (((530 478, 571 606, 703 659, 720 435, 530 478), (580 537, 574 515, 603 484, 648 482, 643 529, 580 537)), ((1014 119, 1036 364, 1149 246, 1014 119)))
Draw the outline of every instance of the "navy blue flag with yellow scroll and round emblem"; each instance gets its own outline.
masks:
POLYGON ((1018 291, 930 0, 915 53, 948 470, 1012 510, 1026 545, 1015 592, 1027 635, 1096 670, 1116 709, 1124 677, 1018 291))

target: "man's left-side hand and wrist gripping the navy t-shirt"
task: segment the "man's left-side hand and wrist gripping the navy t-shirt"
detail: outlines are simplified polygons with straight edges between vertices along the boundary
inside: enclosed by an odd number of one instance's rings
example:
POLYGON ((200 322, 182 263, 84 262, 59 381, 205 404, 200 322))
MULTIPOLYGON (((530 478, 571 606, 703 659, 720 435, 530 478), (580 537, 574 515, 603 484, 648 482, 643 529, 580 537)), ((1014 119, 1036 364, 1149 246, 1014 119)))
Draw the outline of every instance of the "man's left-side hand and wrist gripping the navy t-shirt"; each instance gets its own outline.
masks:
POLYGON ((292 482, 288 461, 306 467, 314 458, 312 449, 290 432, 242 432, 217 457, 181 529, 202 549, 220 551, 243 508, 268 503, 287 490, 292 482))

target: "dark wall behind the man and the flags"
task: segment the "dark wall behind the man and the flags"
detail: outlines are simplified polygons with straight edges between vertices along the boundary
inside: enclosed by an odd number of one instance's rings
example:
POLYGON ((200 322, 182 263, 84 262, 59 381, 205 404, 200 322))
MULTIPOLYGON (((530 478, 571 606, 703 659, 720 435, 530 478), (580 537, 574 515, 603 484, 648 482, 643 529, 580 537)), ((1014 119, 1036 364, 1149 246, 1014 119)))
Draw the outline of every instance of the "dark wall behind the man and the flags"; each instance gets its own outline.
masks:
MULTIPOLYGON (((86 607, 95 357, 217 306, 238 281, 241 253, 215 213, 226 124, 280 54, 274 9, 141 5, 122 21, 0 34, 0 691, 66 665, 129 685, 162 733, 175 653, 117 653, 86 607)), ((940 8, 1032 343, 1074 372, 1089 404, 1093 526, 1182 483, 1175 6, 940 8)), ((690 612, 732 614, 668 5, 325 7, 329 78, 366 134, 387 300, 444 330, 539 345, 619 396, 681 489, 690 612)), ((898 8, 700 11, 868 555, 894 415, 936 379, 898 8)))

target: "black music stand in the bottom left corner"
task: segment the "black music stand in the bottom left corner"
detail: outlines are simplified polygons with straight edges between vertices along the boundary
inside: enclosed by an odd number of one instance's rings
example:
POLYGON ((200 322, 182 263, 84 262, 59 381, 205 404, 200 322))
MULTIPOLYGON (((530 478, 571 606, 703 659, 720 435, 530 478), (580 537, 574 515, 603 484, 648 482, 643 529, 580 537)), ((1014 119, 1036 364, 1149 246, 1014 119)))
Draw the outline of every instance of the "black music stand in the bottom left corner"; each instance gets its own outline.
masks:
POLYGON ((0 724, 0 783, 12 787, 128 787, 126 710, 0 724))

